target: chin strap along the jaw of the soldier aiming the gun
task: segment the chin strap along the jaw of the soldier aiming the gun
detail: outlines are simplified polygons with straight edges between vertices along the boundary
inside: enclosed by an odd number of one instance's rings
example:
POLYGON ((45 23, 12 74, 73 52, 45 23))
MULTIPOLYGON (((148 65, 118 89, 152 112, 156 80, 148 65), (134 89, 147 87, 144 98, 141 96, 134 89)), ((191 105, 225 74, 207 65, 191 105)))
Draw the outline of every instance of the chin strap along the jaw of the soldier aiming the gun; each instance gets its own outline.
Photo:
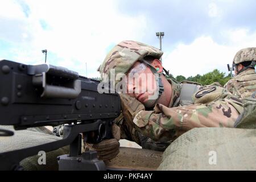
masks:
POLYGON ((158 73, 158 71, 151 64, 149 64, 146 60, 142 60, 142 62, 147 64, 150 67, 152 73, 154 73, 154 75, 155 75, 156 85, 158 86, 158 98, 156 98, 155 100, 148 100, 144 104, 145 107, 150 108, 150 107, 153 107, 157 104, 160 96, 164 92, 164 86, 163 86, 162 78, 160 77, 162 75, 162 73, 158 73))

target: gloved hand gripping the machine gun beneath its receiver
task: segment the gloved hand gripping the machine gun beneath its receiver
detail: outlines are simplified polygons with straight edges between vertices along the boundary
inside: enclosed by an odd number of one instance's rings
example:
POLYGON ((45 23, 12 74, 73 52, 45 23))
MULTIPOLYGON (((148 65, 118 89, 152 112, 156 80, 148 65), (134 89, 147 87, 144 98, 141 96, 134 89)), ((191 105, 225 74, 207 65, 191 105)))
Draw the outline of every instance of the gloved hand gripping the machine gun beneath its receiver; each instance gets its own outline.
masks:
POLYGON ((120 143, 120 128, 119 126, 112 125, 112 139, 102 140, 100 143, 90 144, 84 142, 84 150, 93 150, 97 151, 97 158, 100 160, 109 160, 115 158, 119 153, 120 143))

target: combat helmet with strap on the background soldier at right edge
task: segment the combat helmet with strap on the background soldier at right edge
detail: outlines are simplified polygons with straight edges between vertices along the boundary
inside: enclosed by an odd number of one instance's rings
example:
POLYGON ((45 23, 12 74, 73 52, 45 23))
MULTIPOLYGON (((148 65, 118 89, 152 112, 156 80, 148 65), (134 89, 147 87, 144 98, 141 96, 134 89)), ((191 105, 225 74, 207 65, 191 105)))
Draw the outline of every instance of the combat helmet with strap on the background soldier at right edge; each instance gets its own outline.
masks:
POLYGON ((237 64, 246 62, 246 61, 251 61, 251 64, 244 67, 240 71, 237 70, 238 74, 245 71, 246 69, 249 68, 254 68, 256 65, 256 47, 248 47, 241 49, 236 53, 233 59, 233 67, 235 67, 237 64))

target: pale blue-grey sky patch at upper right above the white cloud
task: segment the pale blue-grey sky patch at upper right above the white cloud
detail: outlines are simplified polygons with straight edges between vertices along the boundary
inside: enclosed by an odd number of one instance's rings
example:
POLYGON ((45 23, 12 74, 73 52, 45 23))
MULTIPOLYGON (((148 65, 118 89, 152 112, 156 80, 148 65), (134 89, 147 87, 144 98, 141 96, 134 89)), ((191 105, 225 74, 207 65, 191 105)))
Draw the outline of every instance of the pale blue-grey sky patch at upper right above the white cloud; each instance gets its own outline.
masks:
MULTIPOLYGON (((191 43, 201 35, 213 36, 224 43, 221 30, 256 28, 255 1, 119 1, 119 12, 129 16, 145 15, 153 32, 165 31, 167 42, 191 43), (159 13, 160 12, 160 13, 159 13)), ((153 41, 153 40, 152 40, 153 41)))

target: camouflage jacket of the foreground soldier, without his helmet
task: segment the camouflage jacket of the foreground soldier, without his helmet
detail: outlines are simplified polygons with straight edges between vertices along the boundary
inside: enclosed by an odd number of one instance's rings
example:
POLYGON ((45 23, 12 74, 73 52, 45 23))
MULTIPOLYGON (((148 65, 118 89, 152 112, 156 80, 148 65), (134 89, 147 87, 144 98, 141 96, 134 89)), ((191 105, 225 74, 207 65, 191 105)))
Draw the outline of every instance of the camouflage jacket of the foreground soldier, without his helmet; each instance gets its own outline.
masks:
MULTIPOLYGON (((169 107, 156 104, 151 111, 145 110, 141 102, 127 94, 120 94, 120 96, 123 118, 119 117, 116 121, 121 131, 124 130, 125 133, 121 137, 134 140, 138 144, 141 142, 139 133, 158 143, 166 143, 167 146, 194 127, 234 127, 236 119, 243 110, 241 100, 233 97, 224 88, 205 94, 203 97, 206 99, 201 101, 209 100, 211 96, 215 98, 211 102, 203 102, 205 104, 178 107, 171 107, 171 104, 169 107)), ((175 100, 172 103, 174 102, 175 100)), ((197 100, 195 102, 198 103, 197 100)))

